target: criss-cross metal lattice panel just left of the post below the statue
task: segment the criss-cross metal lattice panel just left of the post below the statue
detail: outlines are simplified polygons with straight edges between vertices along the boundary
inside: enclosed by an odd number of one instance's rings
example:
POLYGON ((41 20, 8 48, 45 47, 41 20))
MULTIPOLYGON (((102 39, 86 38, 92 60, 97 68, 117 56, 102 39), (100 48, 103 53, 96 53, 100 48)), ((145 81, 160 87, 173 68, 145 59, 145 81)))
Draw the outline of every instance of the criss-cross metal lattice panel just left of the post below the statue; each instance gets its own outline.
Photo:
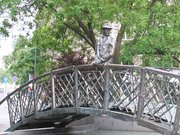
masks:
POLYGON ((80 106, 102 108, 104 71, 79 71, 78 90, 80 106))

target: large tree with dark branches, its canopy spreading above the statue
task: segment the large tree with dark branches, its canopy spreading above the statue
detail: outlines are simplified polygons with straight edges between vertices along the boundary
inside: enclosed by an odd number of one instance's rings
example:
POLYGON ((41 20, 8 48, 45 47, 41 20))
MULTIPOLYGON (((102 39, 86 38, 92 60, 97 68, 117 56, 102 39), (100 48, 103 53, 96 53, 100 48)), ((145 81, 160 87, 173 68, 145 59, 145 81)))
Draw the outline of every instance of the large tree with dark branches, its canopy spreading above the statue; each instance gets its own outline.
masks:
MULTIPOLYGON (((49 38, 51 40, 48 41, 52 41, 49 44, 56 45, 51 50, 58 46, 62 49, 63 45, 72 45, 78 38, 95 49, 100 26, 109 20, 121 23, 113 58, 115 63, 118 62, 119 55, 121 61, 132 63, 132 57, 138 54, 143 54, 143 59, 148 59, 148 56, 153 59, 161 54, 179 62, 179 52, 176 51, 179 50, 177 30, 180 22, 177 0, 171 3, 164 0, 9 0, 9 3, 11 6, 2 7, 11 11, 14 18, 18 15, 35 15, 35 33, 43 29, 50 30, 49 37, 53 36, 49 38), (133 40, 122 44, 125 32, 133 40), (172 48, 171 45, 173 49, 168 49, 172 48), (132 53, 129 54, 127 49, 132 53)), ((37 37, 39 34, 35 34, 33 38, 41 43, 47 40, 37 37)), ((145 62, 145 65, 150 64, 145 62)))

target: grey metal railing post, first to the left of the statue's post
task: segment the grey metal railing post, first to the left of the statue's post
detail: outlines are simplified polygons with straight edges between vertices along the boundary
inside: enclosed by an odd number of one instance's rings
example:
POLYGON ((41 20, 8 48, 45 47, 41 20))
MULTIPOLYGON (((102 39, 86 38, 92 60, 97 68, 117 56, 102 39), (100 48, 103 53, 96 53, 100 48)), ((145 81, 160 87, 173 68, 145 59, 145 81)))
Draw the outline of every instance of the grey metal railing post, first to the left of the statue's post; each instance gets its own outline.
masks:
POLYGON ((75 108, 80 107, 79 92, 78 92, 78 69, 74 67, 74 83, 75 83, 75 108))

